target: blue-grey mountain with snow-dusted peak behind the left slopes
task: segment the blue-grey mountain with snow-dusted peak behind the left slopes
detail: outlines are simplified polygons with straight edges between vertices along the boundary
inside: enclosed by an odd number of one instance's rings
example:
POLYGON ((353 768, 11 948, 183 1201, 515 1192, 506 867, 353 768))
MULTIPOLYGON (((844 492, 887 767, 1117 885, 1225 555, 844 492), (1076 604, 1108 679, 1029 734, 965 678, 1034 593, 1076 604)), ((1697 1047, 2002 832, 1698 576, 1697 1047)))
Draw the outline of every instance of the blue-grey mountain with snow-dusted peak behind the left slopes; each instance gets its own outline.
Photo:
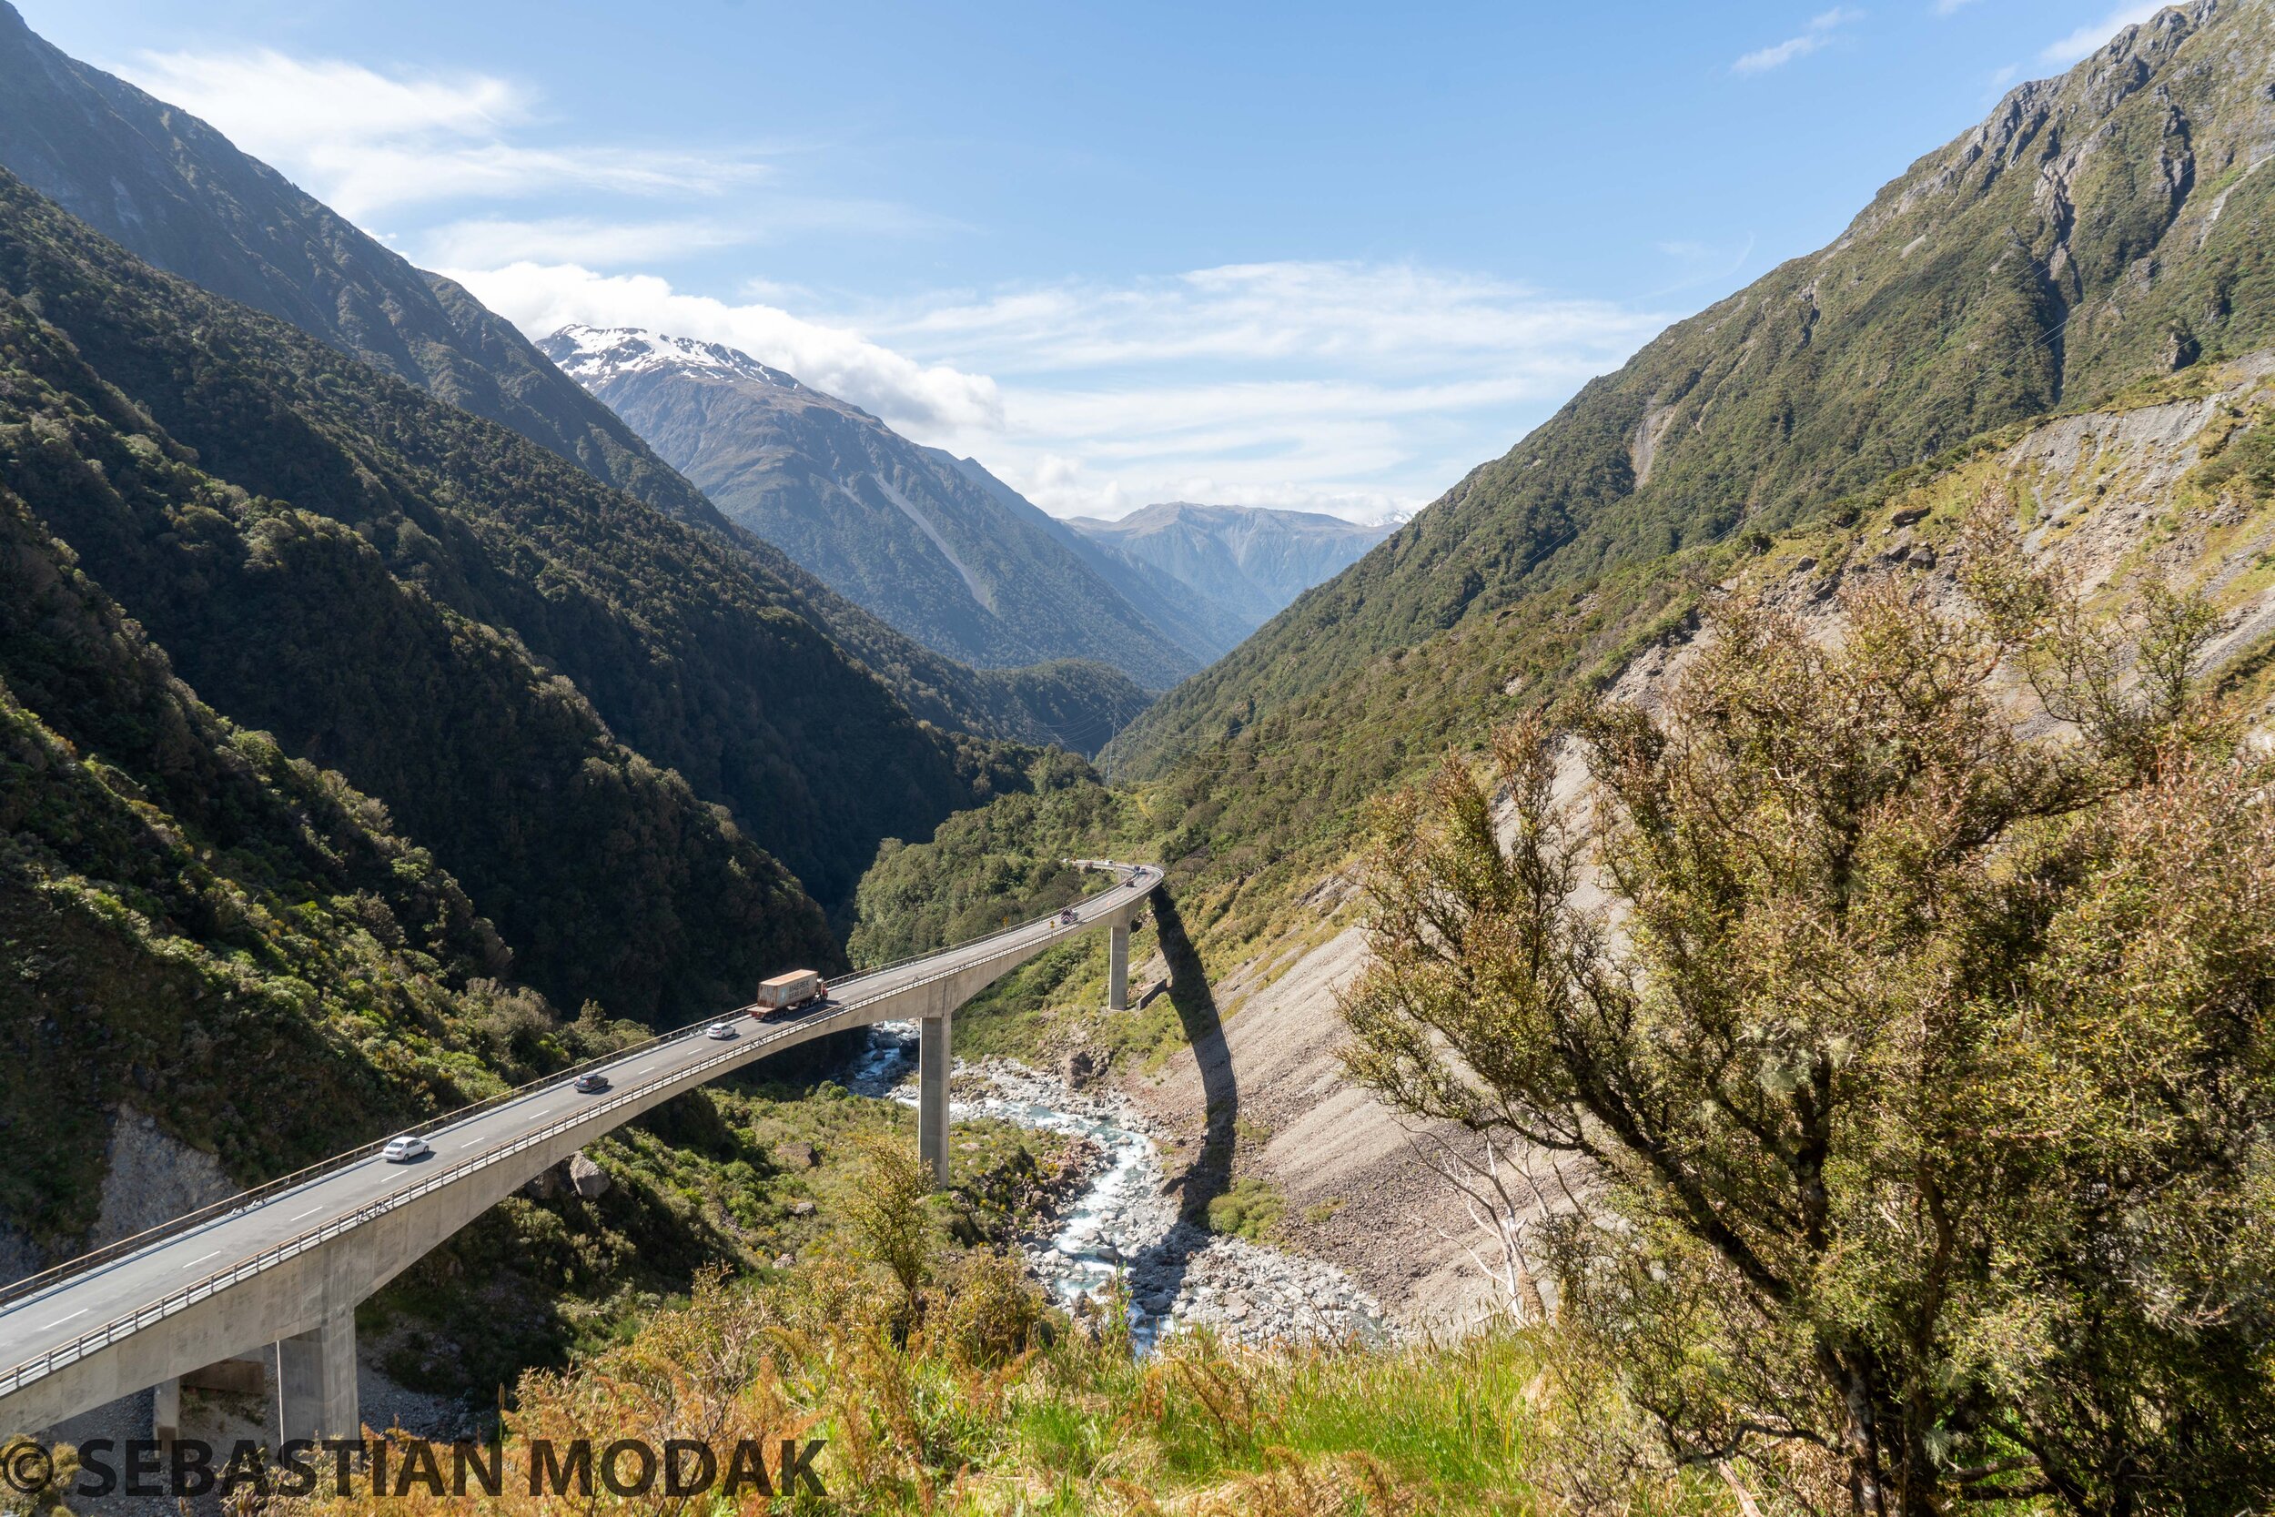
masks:
POLYGON ((746 353, 585 325, 539 348, 737 525, 949 657, 1097 660, 1151 689, 1206 662, 1163 630, 1181 607, 1133 603, 1044 512, 746 353))

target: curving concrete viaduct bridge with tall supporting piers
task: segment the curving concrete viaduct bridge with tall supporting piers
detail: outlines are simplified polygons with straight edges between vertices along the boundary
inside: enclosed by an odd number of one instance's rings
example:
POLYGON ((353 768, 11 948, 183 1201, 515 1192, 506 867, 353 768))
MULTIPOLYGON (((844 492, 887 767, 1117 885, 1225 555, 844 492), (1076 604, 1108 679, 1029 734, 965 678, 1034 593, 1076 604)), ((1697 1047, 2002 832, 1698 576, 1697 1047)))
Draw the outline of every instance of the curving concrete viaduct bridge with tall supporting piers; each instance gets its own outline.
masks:
MULTIPOLYGON (((1010 969, 1076 932, 1108 928, 1108 1005, 1128 1003, 1128 926, 1160 885, 1151 864, 1078 860, 1117 882, 1076 903, 1078 919, 1028 921, 830 987, 778 1021, 708 1023, 416 1128, 432 1153, 389 1164, 380 1144, 218 1201, 0 1292, 0 1433, 50 1428, 157 1387, 157 1435, 180 1419, 180 1376, 275 1344, 273 1431, 357 1437, 355 1308, 428 1249, 548 1167, 696 1085, 828 1033, 919 1021, 919 1146, 949 1176, 949 1021, 1010 969), (578 1094, 598 1071, 610 1087, 578 1094)), ((753 1008, 742 1008, 744 1012, 753 1008)))

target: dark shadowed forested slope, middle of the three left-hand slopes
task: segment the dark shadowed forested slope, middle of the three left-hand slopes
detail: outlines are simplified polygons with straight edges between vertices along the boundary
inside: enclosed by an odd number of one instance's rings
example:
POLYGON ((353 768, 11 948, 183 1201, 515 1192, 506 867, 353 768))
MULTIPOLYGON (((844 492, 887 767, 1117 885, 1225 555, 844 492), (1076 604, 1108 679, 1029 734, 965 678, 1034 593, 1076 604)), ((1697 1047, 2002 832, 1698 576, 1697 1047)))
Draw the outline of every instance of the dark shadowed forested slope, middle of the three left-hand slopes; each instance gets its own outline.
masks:
POLYGON ((0 291, 32 507, 200 696, 378 794, 526 928, 564 1003, 685 1017, 812 955, 812 907, 742 835, 828 903, 880 837, 1017 776, 917 723, 717 537, 5 175, 0 291))

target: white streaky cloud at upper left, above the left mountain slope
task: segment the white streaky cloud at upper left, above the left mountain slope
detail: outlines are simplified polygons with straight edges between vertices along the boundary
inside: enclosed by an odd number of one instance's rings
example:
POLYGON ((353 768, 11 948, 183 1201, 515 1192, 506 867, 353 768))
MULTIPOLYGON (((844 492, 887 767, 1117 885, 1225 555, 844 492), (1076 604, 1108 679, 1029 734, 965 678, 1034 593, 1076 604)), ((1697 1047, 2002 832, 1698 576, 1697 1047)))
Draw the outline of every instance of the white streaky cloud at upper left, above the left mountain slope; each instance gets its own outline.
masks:
POLYGON ((350 221, 400 205, 582 186, 717 196, 764 175, 744 155, 532 148, 512 141, 535 96, 482 73, 382 75, 362 64, 248 52, 143 52, 118 73, 221 127, 350 221))

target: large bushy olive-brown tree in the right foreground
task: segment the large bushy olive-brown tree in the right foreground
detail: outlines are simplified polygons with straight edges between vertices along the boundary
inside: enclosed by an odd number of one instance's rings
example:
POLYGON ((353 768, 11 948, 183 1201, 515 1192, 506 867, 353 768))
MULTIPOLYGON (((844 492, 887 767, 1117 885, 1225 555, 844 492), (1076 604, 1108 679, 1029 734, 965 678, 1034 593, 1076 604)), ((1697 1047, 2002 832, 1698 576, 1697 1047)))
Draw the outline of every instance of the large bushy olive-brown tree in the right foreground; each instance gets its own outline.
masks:
POLYGON ((2275 1485, 2268 764, 2202 607, 2095 630, 1988 528, 1966 562, 1963 612, 1866 589, 1836 646, 1731 600, 1663 712, 1390 803, 1345 1058, 1595 1169, 1558 1331, 1679 1460, 2227 1517, 2275 1485))

